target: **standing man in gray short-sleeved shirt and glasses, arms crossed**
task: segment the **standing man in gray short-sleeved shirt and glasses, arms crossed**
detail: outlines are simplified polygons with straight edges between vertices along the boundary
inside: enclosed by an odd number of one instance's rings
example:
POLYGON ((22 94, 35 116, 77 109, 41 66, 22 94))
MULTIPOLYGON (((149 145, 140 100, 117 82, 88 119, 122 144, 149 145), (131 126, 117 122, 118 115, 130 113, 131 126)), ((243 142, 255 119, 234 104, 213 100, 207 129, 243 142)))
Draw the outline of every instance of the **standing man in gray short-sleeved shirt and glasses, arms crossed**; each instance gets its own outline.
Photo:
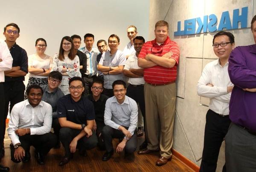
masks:
POLYGON ((108 46, 110 51, 102 54, 99 61, 98 70, 104 75, 104 90, 103 94, 108 97, 113 96, 112 83, 118 79, 123 80, 123 69, 126 58, 122 51, 118 50, 120 38, 112 34, 108 38, 108 46))

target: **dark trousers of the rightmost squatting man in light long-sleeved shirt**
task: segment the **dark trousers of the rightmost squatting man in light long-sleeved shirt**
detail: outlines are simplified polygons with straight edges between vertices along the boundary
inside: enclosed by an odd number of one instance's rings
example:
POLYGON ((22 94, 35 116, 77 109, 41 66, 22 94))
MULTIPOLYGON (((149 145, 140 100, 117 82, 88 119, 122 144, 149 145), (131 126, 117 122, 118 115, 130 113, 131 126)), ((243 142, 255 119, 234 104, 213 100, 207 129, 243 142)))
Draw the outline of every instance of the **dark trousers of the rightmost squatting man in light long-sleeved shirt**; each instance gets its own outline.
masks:
MULTIPOLYGON (((125 129, 128 130, 128 127, 125 127, 125 129)), ((113 138, 125 137, 122 131, 109 127, 108 125, 103 127, 102 136, 103 136, 103 140, 104 140, 107 152, 113 151, 113 144, 112 144, 113 138)), ((133 153, 136 149, 137 149, 137 129, 135 129, 134 135, 131 137, 131 139, 126 142, 125 152, 133 153)))

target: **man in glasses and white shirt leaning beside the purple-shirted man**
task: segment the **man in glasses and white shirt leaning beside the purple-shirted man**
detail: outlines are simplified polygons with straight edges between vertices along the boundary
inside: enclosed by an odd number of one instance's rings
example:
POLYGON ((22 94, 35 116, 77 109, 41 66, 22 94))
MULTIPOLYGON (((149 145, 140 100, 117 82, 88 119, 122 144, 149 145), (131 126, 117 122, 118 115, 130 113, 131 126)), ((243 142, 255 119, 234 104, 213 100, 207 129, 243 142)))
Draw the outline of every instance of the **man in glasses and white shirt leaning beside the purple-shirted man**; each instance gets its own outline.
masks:
MULTIPOLYGON (((204 131, 204 149, 200 172, 215 172, 221 143, 227 134, 229 102, 233 89, 228 75, 228 59, 235 47, 235 38, 230 32, 220 31, 213 37, 213 51, 217 60, 208 63, 198 81, 199 96, 210 99, 206 114, 204 131)), ((225 166, 223 166, 225 172, 225 166)))

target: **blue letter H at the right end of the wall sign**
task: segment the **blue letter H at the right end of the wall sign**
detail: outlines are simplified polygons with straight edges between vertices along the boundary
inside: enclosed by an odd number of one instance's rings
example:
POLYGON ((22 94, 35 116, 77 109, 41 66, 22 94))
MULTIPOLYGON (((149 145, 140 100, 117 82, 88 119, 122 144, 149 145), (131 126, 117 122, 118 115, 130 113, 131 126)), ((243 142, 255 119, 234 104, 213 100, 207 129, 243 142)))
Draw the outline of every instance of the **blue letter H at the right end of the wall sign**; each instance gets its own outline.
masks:
POLYGON ((241 28, 247 28, 248 7, 242 8, 241 16, 239 16, 239 9, 233 10, 233 29, 238 28, 238 23, 241 22, 241 28))

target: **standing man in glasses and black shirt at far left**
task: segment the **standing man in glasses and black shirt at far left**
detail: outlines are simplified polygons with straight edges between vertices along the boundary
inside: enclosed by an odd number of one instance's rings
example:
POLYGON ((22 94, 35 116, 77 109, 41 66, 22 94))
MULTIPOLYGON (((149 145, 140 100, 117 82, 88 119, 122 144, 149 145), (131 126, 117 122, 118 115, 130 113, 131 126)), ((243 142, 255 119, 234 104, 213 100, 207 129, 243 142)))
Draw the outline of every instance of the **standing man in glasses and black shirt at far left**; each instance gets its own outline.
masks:
MULTIPOLYGON (((6 44, 10 50, 13 58, 12 69, 4 72, 5 82, 4 86, 4 99, 5 99, 5 119, 8 115, 9 103, 10 103, 10 113, 12 107, 24 100, 25 85, 23 81, 24 76, 28 73, 28 56, 26 51, 16 44, 16 39, 20 36, 20 28, 15 23, 10 23, 4 27, 3 35, 6 37, 6 44)), ((0 144, 3 143, 6 123, 3 126, 3 137, 0 138, 0 144)), ((4 155, 4 147, 1 156, 4 155)))

